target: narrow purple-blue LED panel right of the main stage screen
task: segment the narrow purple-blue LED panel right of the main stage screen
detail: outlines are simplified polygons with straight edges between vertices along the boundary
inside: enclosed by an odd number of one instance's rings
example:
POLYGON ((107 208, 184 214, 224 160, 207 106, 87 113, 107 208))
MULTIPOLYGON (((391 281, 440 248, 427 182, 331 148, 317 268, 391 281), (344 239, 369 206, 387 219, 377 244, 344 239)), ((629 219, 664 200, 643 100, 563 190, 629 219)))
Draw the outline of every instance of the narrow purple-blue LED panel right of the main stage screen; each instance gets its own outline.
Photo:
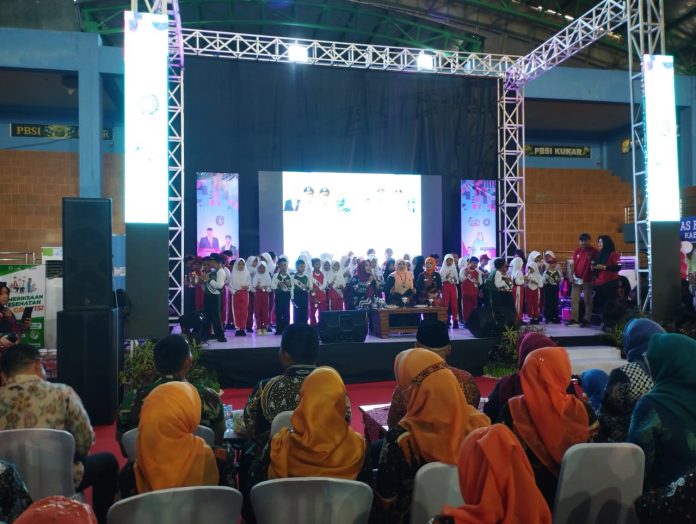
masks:
POLYGON ((496 257, 496 181, 462 180, 461 182, 461 256, 496 257))

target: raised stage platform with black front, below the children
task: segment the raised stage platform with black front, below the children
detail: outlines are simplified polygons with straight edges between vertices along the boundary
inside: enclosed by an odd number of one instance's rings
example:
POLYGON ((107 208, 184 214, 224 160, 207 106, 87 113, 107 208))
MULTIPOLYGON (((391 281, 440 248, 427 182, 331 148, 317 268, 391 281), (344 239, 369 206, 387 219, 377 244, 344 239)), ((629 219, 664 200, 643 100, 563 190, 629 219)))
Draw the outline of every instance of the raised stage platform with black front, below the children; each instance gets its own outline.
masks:
MULTIPOLYGON (((608 346, 607 336, 596 327, 581 328, 545 325, 545 334, 566 347, 573 363, 573 372, 589 367, 613 369, 622 362, 618 350, 608 346)), ((251 387, 262 378, 282 373, 278 361, 281 337, 276 335, 235 337, 227 331, 227 342, 211 340, 201 361, 214 369, 222 387, 251 387)), ((488 352, 497 337, 476 338, 468 329, 450 329, 452 354, 448 362, 474 375, 483 374, 488 352)), ((368 335, 363 343, 322 344, 320 365, 334 367, 348 383, 393 380, 394 357, 413 347, 415 336, 397 335, 387 339, 368 335)))

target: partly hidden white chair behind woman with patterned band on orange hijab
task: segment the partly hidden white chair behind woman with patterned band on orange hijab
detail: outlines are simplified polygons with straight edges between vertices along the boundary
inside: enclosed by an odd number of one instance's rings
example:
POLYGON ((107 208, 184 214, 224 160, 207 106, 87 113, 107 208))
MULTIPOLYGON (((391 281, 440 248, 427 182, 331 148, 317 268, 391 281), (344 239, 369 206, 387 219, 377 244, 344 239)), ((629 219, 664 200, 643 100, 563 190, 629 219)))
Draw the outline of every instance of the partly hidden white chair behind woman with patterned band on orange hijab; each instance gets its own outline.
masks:
POLYGON ((445 504, 464 504, 457 466, 431 462, 418 470, 413 482, 411 524, 423 524, 439 514, 445 504))

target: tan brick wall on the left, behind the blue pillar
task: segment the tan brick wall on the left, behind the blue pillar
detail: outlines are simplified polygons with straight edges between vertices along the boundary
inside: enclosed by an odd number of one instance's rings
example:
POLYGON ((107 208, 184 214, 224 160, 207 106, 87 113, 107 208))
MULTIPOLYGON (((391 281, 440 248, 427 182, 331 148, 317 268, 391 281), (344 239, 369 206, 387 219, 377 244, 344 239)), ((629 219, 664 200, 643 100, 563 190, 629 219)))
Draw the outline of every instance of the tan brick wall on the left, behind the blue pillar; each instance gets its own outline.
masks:
MULTIPOLYGON (((60 245, 61 199, 78 194, 76 153, 0 150, 0 251, 60 245)), ((113 199, 113 232, 123 234, 123 157, 104 155, 104 196, 113 199)))

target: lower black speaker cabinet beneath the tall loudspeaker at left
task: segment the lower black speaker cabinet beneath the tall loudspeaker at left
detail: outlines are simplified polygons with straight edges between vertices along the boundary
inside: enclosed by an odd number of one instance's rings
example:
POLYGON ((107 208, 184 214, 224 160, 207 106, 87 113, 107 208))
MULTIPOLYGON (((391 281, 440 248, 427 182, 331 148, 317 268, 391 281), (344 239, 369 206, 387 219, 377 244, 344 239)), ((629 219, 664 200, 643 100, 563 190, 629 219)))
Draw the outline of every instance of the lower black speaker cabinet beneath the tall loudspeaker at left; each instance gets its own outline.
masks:
POLYGON ((82 399, 92 424, 112 424, 118 410, 118 311, 58 312, 58 381, 82 399))

